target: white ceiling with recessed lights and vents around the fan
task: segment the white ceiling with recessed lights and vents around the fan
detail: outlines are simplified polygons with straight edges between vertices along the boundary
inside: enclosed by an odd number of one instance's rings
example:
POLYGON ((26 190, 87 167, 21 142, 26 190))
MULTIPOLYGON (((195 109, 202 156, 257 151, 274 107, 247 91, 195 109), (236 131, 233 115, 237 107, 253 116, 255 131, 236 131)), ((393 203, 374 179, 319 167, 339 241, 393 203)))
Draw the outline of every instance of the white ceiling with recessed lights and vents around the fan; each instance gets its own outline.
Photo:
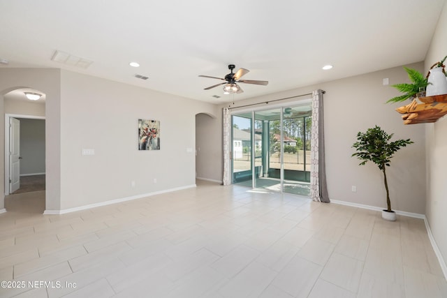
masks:
POLYGON ((223 103, 423 61, 444 3, 0 0, 0 59, 10 61, 0 68, 64 68, 223 103), (59 64, 55 50, 93 64, 59 64), (219 80, 198 75, 223 77, 228 64, 268 86, 241 84, 234 98, 221 87, 203 90, 219 80))

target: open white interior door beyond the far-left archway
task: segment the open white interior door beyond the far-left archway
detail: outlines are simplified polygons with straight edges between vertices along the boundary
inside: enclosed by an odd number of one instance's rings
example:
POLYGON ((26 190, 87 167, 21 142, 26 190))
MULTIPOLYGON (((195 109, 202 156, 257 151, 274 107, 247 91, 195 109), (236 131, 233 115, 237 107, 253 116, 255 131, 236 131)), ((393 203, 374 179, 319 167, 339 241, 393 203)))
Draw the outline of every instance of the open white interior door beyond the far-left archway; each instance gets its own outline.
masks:
POLYGON ((20 188, 20 121, 9 119, 9 193, 20 188))

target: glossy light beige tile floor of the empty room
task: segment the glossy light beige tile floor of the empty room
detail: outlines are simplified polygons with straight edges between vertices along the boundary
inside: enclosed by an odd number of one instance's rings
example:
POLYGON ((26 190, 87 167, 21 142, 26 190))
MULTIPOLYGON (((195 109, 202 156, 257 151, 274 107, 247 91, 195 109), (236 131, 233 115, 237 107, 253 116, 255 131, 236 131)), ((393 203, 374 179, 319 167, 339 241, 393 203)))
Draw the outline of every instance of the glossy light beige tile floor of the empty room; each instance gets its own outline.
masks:
POLYGON ((0 215, 0 297, 447 297, 420 219, 205 181, 61 216, 31 194, 0 215))

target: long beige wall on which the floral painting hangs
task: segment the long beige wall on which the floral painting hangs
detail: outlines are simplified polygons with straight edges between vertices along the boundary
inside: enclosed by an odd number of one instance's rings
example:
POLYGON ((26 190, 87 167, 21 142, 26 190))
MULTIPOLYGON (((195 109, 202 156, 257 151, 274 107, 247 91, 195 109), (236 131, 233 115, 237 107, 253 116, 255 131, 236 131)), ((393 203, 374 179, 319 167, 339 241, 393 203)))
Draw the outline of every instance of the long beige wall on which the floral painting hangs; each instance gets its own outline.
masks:
POLYGON ((196 114, 216 109, 61 70, 61 209, 194 186, 196 114), (138 150, 138 119, 160 121, 161 150, 138 150))

